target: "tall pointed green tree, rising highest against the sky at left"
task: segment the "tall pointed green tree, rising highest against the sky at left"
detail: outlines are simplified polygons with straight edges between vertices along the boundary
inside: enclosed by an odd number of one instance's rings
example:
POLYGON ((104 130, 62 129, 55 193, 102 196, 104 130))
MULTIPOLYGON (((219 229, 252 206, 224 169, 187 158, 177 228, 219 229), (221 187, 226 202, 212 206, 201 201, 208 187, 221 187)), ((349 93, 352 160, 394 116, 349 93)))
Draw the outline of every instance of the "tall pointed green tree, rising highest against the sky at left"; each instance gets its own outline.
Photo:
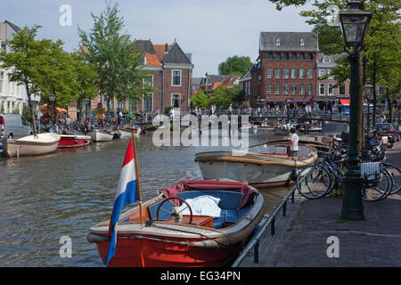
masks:
POLYGON ((140 53, 129 35, 122 34, 124 19, 119 17, 119 5, 106 3, 100 16, 91 13, 94 27, 90 32, 78 28, 81 47, 86 61, 94 64, 99 74, 99 93, 106 96, 107 116, 112 98, 120 102, 138 101, 143 94, 149 96, 152 87, 143 84, 148 74, 141 68, 143 53, 140 53))

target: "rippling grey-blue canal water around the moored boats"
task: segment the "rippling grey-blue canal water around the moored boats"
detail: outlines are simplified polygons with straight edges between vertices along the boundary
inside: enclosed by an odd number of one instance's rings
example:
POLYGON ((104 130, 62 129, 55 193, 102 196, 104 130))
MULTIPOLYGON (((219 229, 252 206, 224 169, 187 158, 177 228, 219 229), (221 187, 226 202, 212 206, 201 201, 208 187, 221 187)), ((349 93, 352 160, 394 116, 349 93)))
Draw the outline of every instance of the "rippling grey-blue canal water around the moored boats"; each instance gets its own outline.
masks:
MULTIPOLYGON (((272 138, 250 134, 250 145, 272 138)), ((92 225, 110 218, 127 143, 97 142, 19 159, 0 156, 0 266, 103 266, 86 234, 92 225), (71 257, 60 255, 62 237, 70 237, 71 257)), ((157 147, 151 132, 137 137, 136 147, 143 201, 180 180, 201 179, 193 160, 196 152, 230 149, 157 147)), ((266 216, 288 191, 262 191, 266 216)))

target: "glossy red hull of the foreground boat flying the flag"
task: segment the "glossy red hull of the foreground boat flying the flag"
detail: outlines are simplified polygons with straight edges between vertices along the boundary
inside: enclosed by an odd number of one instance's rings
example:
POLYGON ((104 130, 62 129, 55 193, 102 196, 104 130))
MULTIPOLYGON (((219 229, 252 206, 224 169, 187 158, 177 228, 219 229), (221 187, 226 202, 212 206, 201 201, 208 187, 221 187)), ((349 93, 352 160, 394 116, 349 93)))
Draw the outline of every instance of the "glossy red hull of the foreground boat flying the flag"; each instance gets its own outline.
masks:
MULTIPOLYGON (((188 241, 172 239, 169 241, 188 241)), ((197 240, 192 240, 197 241, 197 240)), ((109 241, 97 242, 104 264, 109 241)), ((221 267, 233 261, 240 250, 230 248, 194 248, 173 242, 148 239, 119 239, 116 254, 110 259, 110 267, 221 267)))

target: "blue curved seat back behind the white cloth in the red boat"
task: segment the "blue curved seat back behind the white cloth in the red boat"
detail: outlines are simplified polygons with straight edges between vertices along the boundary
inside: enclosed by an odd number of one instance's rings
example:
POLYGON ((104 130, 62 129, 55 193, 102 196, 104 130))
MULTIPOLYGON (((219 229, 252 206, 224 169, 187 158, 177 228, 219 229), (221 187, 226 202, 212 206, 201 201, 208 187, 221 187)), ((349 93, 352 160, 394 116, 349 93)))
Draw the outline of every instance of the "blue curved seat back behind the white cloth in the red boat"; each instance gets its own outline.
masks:
POLYGON ((195 197, 209 195, 220 199, 218 207, 221 209, 236 209, 241 203, 243 194, 235 191, 184 191, 177 193, 182 199, 193 199, 195 197))

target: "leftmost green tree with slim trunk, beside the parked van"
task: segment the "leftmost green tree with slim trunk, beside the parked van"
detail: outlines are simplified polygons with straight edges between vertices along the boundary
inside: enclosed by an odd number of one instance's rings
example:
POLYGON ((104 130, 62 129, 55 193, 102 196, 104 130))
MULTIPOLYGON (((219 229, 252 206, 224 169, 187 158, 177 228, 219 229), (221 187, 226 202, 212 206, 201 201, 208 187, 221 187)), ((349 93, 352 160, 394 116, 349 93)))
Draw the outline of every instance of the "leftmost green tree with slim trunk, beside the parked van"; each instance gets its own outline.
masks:
POLYGON ((13 82, 24 85, 28 96, 30 121, 34 135, 37 135, 37 126, 33 115, 31 95, 39 93, 40 83, 46 72, 46 62, 49 62, 49 46, 51 40, 36 40, 37 28, 22 28, 11 40, 7 41, 12 53, 1 52, 1 68, 9 69, 9 77, 13 82))

